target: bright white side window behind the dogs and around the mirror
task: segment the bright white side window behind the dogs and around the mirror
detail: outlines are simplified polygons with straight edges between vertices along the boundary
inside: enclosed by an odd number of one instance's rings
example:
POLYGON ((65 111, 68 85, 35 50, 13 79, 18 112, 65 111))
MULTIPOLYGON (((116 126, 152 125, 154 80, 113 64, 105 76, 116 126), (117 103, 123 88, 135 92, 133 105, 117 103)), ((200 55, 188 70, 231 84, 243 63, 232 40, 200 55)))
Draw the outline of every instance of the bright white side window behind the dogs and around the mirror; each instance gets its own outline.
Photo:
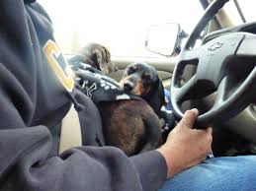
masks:
POLYGON ((203 15, 199 0, 40 0, 65 54, 88 42, 107 46, 112 55, 157 57, 144 48, 150 25, 179 23, 190 33, 203 15))

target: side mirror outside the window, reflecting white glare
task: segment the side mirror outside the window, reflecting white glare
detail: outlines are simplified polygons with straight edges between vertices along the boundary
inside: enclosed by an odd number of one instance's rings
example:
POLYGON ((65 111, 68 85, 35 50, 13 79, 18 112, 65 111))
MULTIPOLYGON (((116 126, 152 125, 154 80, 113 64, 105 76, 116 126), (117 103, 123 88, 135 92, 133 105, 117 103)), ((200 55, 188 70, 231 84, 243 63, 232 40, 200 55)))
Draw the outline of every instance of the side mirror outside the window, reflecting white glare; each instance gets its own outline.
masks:
POLYGON ((180 53, 182 39, 187 36, 176 23, 153 25, 147 31, 145 48, 164 56, 175 56, 180 53))

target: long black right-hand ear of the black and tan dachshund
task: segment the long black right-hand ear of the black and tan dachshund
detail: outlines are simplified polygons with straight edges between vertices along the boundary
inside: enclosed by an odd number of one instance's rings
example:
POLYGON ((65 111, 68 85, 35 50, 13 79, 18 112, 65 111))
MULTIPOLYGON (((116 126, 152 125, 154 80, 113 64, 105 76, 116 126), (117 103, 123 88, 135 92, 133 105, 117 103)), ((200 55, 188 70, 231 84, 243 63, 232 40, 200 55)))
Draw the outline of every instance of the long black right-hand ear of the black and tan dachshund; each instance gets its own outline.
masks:
POLYGON ((160 79, 157 79, 157 82, 147 100, 156 114, 159 114, 162 105, 164 105, 164 88, 160 79))

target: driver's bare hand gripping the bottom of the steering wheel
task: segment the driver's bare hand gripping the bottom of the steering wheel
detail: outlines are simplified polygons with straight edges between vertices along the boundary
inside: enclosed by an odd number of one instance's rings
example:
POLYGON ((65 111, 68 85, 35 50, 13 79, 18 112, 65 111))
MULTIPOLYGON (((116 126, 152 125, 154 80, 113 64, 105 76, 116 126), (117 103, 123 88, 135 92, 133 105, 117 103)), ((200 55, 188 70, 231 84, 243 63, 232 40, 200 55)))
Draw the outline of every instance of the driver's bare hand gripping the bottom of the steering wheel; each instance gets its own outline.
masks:
POLYGON ((157 150, 166 160, 168 178, 202 162, 212 152, 212 128, 193 129, 198 113, 197 109, 186 111, 168 135, 166 143, 157 150))

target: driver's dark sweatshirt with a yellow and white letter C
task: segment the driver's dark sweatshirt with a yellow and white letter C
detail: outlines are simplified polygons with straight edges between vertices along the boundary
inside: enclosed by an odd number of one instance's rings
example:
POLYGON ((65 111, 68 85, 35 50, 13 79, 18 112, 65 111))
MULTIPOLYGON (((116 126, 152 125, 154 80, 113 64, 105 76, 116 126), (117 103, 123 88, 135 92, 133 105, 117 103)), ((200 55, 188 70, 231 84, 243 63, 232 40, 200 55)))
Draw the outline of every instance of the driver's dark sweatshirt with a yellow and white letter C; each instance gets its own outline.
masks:
POLYGON ((0 190, 160 188, 167 167, 158 152, 128 158, 104 146, 99 111, 73 88, 52 32, 38 3, 1 0, 0 190), (58 156, 60 122, 71 100, 83 105, 79 117, 84 147, 58 156))

